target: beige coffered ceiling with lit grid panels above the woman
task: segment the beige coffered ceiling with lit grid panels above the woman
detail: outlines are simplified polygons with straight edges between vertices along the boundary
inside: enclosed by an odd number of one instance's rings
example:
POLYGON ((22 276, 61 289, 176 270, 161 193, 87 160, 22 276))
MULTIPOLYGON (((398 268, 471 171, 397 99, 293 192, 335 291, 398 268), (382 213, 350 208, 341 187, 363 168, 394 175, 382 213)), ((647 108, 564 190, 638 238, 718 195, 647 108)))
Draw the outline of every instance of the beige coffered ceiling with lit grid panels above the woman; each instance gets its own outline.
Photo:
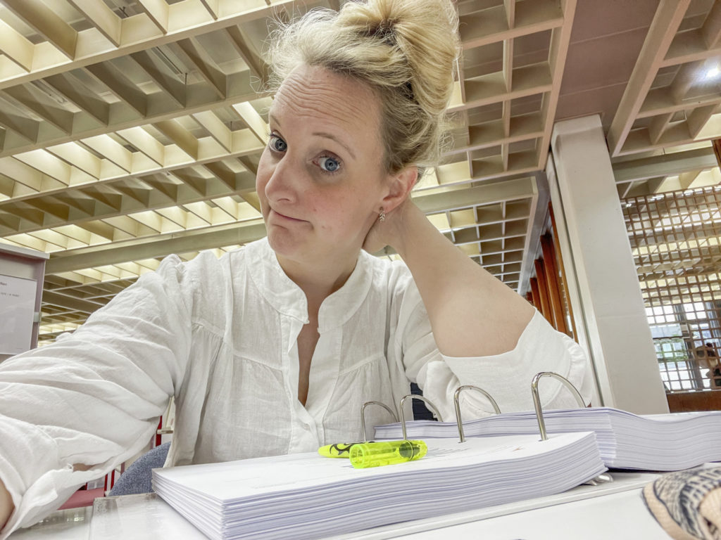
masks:
MULTIPOLYGON (((265 235, 264 42, 271 18, 318 6, 339 2, 2 0, 0 242, 50 253, 41 339, 169 253, 265 235)), ((721 135, 717 2, 457 7, 454 145, 414 197, 510 287, 545 218, 554 120, 601 114, 620 197, 718 182, 699 142, 721 135)))

